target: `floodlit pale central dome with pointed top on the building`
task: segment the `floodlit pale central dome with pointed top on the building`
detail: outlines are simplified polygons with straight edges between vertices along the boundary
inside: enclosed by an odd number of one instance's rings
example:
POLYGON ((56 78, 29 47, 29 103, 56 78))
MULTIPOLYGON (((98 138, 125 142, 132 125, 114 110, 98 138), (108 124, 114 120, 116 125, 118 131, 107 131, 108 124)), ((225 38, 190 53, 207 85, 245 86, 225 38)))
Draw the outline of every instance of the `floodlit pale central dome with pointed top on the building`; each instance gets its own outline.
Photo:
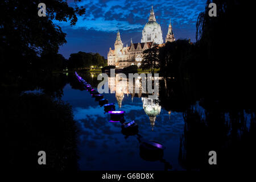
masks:
POLYGON ((148 18, 148 22, 142 31, 141 43, 146 42, 154 42, 156 44, 163 43, 162 30, 160 25, 156 22, 153 6, 150 10, 150 17, 148 18))

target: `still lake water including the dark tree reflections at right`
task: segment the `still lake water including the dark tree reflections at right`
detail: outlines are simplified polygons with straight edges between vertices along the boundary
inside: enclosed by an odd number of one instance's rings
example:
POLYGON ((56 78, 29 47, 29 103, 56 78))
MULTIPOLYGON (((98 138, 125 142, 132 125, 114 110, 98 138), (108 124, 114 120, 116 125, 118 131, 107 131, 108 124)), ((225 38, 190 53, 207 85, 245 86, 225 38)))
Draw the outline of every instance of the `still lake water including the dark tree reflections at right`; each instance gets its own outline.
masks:
MULTIPOLYGON (((79 74, 97 88, 97 74, 79 74)), ((218 169, 249 167, 254 155, 255 109, 236 103, 204 99, 190 83, 161 78, 155 100, 147 94, 127 92, 127 84, 104 93, 115 110, 125 111, 125 122, 138 124, 137 135, 122 133, 120 122, 109 122, 104 107, 84 89, 75 74, 60 94, 73 109, 78 133, 81 170, 204 170, 209 151, 218 154, 218 169), (145 158, 141 140, 154 140, 165 147, 163 157, 145 158), (236 160, 234 160, 236 159, 236 160), (171 167, 170 167, 171 166, 171 167)), ((111 85, 109 85, 111 86, 111 85)))

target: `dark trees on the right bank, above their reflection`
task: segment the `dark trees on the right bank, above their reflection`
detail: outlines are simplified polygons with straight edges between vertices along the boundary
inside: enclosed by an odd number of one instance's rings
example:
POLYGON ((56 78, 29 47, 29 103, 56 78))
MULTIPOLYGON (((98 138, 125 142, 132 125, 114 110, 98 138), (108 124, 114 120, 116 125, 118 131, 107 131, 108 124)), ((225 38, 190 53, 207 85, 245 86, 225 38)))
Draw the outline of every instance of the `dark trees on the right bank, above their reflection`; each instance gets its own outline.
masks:
POLYGON ((177 40, 159 48, 160 73, 175 77, 181 87, 189 85, 209 101, 253 104, 249 9, 243 1, 207 1, 197 19, 196 43, 177 40), (216 17, 208 15, 211 2, 217 5, 216 17))

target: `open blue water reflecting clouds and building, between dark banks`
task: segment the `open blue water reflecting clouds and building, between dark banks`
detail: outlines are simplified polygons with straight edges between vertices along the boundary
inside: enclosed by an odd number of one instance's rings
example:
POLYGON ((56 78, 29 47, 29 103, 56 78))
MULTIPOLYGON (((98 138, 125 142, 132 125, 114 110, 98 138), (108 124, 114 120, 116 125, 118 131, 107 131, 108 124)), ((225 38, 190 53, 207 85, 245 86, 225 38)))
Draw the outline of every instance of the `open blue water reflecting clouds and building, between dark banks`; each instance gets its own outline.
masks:
MULTIPOLYGON (((87 82, 91 80, 88 76, 83 78, 87 82)), ((172 168, 183 169, 178 162, 180 137, 184 130, 183 113, 167 111, 159 105, 158 98, 151 100, 142 94, 130 94, 124 87, 117 85, 115 93, 104 93, 104 98, 115 104, 115 110, 125 111, 126 122, 134 120, 138 124, 143 139, 166 146, 163 159, 172 168)), ((81 170, 164 170, 163 162, 141 158, 138 135, 123 135, 121 123, 109 122, 110 115, 88 91, 73 89, 67 84, 62 100, 72 105, 79 127, 81 170)))

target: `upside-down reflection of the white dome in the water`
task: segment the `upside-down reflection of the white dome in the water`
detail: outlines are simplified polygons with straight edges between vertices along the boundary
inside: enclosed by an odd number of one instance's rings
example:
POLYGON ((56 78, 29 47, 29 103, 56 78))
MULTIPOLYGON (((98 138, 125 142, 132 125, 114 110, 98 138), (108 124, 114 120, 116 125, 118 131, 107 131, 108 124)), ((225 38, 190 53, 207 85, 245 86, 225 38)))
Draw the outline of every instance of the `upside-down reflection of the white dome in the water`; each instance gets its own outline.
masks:
POLYGON ((155 100, 152 98, 142 97, 143 109, 150 118, 150 125, 153 131, 155 126, 156 116, 160 114, 161 106, 159 105, 158 97, 155 100))

